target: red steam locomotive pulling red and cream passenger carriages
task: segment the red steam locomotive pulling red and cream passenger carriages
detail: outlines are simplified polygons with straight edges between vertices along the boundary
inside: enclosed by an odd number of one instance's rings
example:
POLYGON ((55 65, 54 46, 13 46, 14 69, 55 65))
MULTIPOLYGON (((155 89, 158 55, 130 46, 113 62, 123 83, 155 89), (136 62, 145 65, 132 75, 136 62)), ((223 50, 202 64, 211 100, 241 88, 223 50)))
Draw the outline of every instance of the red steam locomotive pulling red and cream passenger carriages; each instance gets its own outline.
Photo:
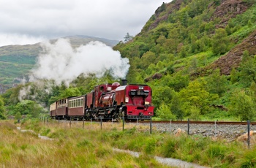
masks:
POLYGON ((50 104, 50 118, 149 120, 154 116, 152 90, 148 85, 120 83, 97 85, 83 96, 50 104))

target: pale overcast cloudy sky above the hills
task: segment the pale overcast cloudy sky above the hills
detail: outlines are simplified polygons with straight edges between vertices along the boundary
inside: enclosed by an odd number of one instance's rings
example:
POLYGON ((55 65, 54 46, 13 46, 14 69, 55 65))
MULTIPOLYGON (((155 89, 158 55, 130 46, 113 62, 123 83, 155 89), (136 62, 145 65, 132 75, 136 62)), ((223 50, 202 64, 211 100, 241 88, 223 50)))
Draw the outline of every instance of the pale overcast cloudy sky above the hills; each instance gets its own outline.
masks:
POLYGON ((0 46, 72 35, 124 40, 138 34, 163 0, 2 0, 0 46))

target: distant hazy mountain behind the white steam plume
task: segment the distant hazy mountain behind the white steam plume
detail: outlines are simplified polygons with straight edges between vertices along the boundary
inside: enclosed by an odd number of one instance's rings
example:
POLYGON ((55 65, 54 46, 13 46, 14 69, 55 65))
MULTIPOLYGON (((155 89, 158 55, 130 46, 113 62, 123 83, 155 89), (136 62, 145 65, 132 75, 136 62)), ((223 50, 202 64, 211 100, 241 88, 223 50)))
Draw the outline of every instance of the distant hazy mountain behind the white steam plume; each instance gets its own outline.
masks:
MULTIPOLYGON (((69 39, 72 47, 86 45, 91 41, 103 42, 110 47, 118 44, 118 40, 82 35, 62 38, 69 39)), ((56 42, 56 40, 51 39, 50 42, 56 42)), ((40 47, 39 43, 34 45, 7 45, 0 47, 0 93, 20 83, 20 80, 34 67, 41 50, 42 47, 40 47)))

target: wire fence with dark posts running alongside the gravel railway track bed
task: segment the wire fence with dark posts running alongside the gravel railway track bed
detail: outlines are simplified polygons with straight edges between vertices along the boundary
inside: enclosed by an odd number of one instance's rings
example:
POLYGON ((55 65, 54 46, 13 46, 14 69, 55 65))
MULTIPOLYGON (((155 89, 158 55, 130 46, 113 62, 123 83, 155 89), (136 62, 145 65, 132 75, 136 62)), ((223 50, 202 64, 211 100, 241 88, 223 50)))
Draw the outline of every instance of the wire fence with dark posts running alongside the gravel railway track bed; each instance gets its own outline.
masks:
POLYGON ((251 137, 256 126, 252 125, 250 121, 247 121, 246 125, 223 125, 218 124, 217 121, 214 124, 196 124, 191 123, 190 120, 187 120, 187 123, 173 123, 170 120, 170 123, 153 123, 150 119, 149 122, 140 122, 137 121, 126 122, 127 118, 119 118, 117 121, 113 118, 98 118, 94 120, 93 118, 55 118, 50 119, 48 117, 41 117, 39 121, 42 121, 45 124, 64 124, 65 128, 83 128, 83 129, 129 129, 129 128, 138 128, 143 129, 143 131, 149 131, 152 134, 152 131, 157 132, 170 132, 170 134, 176 134, 178 130, 181 130, 182 133, 193 135, 193 134, 203 134, 204 137, 224 137, 235 140, 242 134, 245 135, 246 143, 248 148, 251 145, 251 137))

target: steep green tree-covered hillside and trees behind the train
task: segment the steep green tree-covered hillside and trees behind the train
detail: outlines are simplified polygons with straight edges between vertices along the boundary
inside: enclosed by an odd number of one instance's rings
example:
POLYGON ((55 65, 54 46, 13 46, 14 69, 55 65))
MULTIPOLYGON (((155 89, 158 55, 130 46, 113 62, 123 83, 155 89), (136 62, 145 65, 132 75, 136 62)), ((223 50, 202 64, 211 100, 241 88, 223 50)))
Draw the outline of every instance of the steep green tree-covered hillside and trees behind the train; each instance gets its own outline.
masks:
MULTIPOLYGON (((128 83, 151 86, 157 118, 256 120, 255 2, 163 3, 140 34, 113 47, 129 58, 128 83)), ((80 75, 69 87, 50 81, 43 86, 18 85, 1 95, 0 118, 46 115, 44 107, 57 99, 82 95, 94 85, 116 80, 121 79, 105 72, 102 78, 80 75), (26 94, 20 95, 22 91, 26 94)))

